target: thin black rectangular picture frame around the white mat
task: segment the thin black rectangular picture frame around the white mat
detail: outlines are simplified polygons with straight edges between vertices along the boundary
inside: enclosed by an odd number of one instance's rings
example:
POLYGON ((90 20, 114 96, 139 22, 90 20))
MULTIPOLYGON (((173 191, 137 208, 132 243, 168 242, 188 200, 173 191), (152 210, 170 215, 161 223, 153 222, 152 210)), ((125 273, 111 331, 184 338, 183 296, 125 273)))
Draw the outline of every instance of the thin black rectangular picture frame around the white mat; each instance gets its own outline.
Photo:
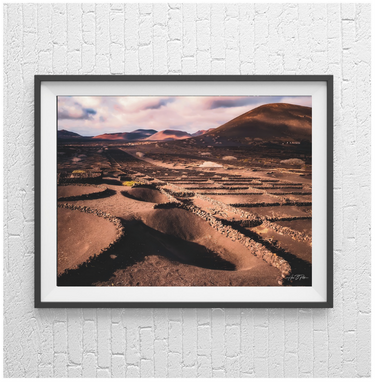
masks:
MULTIPOLYGON (((333 76, 332 75, 35 75, 35 308, 332 308, 333 307, 333 76), (327 122, 326 300, 323 302, 67 302, 41 296, 41 86, 45 82, 324 82, 327 122)), ((282 289, 282 288, 280 288, 282 289)))

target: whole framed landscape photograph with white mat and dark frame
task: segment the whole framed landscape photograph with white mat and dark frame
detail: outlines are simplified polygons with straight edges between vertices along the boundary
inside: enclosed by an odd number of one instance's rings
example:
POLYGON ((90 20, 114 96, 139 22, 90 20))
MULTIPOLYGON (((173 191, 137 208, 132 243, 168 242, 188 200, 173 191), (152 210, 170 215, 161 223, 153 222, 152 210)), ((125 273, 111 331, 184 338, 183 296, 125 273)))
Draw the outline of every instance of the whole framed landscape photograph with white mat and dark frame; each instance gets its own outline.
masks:
POLYGON ((35 76, 36 307, 332 307, 333 77, 35 76))

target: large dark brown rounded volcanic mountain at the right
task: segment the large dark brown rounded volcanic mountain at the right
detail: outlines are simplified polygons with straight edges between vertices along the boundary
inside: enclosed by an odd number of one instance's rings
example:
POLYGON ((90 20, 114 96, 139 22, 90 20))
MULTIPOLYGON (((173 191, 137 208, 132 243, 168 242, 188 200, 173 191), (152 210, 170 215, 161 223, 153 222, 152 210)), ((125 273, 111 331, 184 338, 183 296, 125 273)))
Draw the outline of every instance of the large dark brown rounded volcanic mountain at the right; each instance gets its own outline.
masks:
POLYGON ((262 105, 203 136, 219 141, 311 141, 311 108, 286 103, 262 105))

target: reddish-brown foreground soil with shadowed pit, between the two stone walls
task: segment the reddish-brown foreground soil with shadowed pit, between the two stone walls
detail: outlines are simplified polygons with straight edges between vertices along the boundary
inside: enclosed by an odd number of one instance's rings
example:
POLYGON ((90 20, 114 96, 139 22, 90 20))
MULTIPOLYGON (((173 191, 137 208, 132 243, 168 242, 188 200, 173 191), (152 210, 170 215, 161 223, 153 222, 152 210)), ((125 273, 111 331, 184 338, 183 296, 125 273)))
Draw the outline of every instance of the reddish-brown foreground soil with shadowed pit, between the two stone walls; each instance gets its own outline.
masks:
POLYGON ((101 260, 96 270, 84 268, 85 277, 79 269, 68 271, 60 285, 278 285, 276 268, 194 214, 153 209, 153 203, 123 194, 139 188, 111 187, 117 193, 109 198, 76 204, 116 213, 125 227, 123 240, 103 256, 105 265, 101 260), (161 270, 153 269, 156 265, 161 270))

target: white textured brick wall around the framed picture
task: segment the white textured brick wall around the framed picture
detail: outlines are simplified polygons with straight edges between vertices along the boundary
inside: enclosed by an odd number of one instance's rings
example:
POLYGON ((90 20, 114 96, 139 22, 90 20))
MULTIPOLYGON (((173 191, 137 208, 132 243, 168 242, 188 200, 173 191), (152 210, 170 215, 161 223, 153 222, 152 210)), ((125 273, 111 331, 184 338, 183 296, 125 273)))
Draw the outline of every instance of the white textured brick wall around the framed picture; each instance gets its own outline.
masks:
POLYGON ((370 6, 4 7, 4 375, 370 375, 370 6), (33 308, 34 74, 333 74, 334 309, 33 308))

